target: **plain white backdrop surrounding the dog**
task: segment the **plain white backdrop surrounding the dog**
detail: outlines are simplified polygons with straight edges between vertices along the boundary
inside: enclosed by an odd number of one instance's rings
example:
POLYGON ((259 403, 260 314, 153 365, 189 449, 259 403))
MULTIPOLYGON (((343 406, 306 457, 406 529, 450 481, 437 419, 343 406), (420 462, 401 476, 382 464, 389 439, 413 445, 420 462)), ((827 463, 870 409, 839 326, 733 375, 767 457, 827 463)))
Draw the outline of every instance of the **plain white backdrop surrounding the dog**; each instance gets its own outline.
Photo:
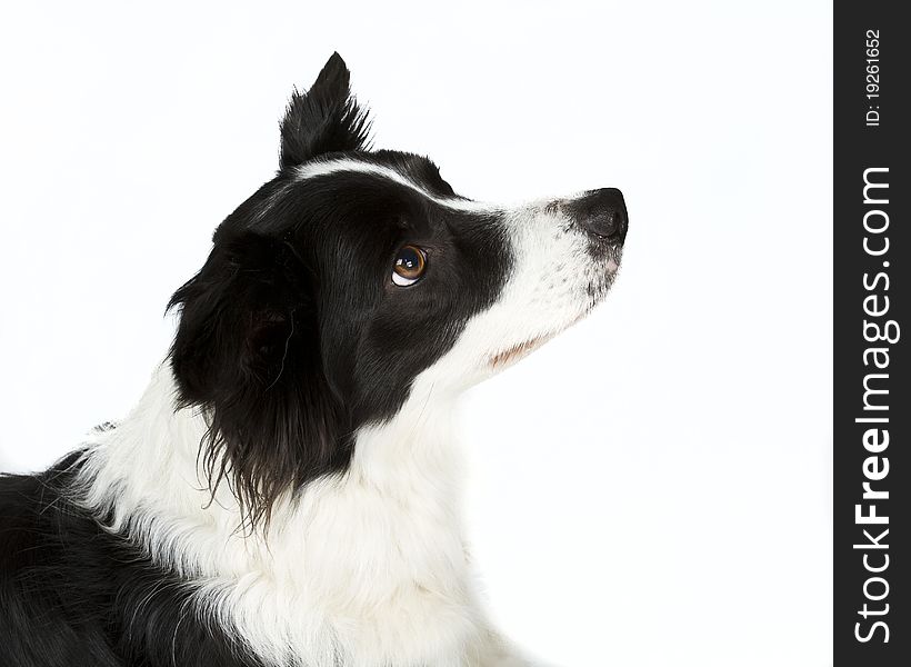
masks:
POLYGON ((458 191, 627 197, 607 303, 463 406, 507 633, 564 666, 831 663, 828 3, 44 4, 0 20, 0 468, 130 408, 339 50, 376 145, 458 191))

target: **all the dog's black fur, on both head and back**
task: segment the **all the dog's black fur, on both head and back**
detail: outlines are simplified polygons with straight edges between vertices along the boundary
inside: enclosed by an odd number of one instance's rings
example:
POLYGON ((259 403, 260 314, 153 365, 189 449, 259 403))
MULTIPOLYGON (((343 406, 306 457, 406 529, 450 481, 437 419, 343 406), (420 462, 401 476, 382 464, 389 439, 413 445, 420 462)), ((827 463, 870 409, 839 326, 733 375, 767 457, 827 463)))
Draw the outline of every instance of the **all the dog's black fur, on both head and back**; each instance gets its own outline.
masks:
MULTIPOLYGON (((279 495, 343 474, 354 431, 396 414, 512 265, 497 213, 442 207, 376 175, 297 178, 308 161, 344 157, 453 196, 426 158, 366 150, 348 80, 334 54, 294 93, 278 175, 219 226, 169 305, 180 311, 176 408, 204 412, 210 487, 230 485, 248 527, 269 520, 279 495), (391 272, 406 243, 426 250, 428 270, 401 288, 391 272)), ((73 455, 0 478, 0 667, 258 667, 207 624, 191 581, 80 509, 80 465, 73 455)))

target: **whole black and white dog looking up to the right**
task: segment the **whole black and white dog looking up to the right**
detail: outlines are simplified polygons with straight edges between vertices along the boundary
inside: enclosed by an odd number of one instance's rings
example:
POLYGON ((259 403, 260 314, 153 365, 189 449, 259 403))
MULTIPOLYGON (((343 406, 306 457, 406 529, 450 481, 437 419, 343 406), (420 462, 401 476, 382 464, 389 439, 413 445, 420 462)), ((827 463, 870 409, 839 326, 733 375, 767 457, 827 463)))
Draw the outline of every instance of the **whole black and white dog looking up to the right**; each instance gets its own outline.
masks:
POLYGON ((0 665, 525 664, 472 586, 451 406, 604 296, 625 206, 479 203, 367 128, 334 54, 136 409, 0 478, 0 665))

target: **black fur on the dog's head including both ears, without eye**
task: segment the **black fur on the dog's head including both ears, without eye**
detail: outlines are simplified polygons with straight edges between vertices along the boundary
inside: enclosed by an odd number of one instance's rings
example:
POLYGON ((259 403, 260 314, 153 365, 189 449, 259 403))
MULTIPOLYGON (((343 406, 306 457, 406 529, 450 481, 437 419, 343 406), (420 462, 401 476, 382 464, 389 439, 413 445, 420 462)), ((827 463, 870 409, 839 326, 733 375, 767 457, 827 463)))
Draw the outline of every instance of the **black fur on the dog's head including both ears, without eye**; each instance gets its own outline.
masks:
POLYGON ((362 119, 334 54, 289 106, 278 176, 216 230, 169 306, 182 309, 171 349, 181 405, 202 406, 211 422, 211 488, 227 479, 251 525, 268 521, 282 491, 342 472, 353 432, 398 410, 511 267, 495 217, 367 173, 297 179, 300 160, 346 157, 452 196, 426 158, 358 150, 362 119), (324 149, 336 152, 313 155, 324 149), (404 243, 429 256, 419 289, 390 282, 404 243))

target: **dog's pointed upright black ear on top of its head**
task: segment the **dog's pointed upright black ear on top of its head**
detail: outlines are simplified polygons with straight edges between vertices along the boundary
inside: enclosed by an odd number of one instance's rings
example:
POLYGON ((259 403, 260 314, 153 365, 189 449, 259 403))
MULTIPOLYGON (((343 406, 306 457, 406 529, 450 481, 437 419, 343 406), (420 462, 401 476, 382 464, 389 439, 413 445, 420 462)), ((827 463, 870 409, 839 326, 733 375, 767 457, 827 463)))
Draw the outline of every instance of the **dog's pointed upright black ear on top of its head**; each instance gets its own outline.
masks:
POLYGON ((281 122, 281 169, 320 153, 364 148, 367 111, 351 97, 349 79, 344 60, 332 53, 310 90, 294 90, 281 122))

